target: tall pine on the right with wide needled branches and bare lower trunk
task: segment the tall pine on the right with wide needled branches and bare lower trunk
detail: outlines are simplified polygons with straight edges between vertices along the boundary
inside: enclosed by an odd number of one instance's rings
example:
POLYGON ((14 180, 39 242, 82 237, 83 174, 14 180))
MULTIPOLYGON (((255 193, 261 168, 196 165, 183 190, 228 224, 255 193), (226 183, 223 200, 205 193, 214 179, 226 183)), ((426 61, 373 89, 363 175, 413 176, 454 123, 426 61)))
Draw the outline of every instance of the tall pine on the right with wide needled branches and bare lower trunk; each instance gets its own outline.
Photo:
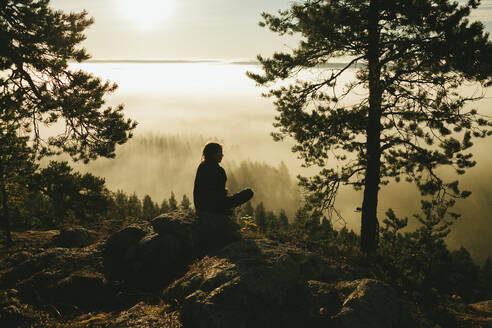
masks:
POLYGON ((248 73, 260 85, 296 77, 268 94, 279 112, 274 138, 294 138, 293 150, 305 165, 322 168, 301 179, 318 208, 333 208, 341 184, 364 190, 365 252, 376 248, 381 184, 404 177, 435 199, 468 195, 436 169, 451 165, 464 173, 474 165, 467 153, 472 137, 490 134, 490 123, 464 108, 482 96, 460 95, 459 89, 490 83, 492 43, 482 23, 468 20, 479 3, 307 0, 278 15, 263 14, 261 25, 301 39, 292 53, 258 56, 264 72, 248 73), (340 57, 349 63, 332 64, 340 57), (320 72, 312 78, 298 75, 313 68, 320 72), (354 79, 340 88, 349 69, 354 79), (342 102, 353 93, 363 95, 359 102, 342 102), (329 168, 330 156, 340 169, 329 168))

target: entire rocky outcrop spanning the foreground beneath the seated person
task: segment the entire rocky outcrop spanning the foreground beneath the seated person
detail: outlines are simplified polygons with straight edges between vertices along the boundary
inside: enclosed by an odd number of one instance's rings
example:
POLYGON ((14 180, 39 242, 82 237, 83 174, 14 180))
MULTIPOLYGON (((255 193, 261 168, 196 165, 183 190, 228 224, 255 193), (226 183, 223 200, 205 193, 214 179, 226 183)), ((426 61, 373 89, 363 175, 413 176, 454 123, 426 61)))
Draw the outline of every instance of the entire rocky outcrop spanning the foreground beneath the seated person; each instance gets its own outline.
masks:
MULTIPOLYGON (((490 304, 449 308, 453 326, 490 326, 490 304)), ((242 239, 228 218, 183 211, 87 247, 24 247, 0 259, 2 328, 434 326, 411 310, 344 260, 242 239)))

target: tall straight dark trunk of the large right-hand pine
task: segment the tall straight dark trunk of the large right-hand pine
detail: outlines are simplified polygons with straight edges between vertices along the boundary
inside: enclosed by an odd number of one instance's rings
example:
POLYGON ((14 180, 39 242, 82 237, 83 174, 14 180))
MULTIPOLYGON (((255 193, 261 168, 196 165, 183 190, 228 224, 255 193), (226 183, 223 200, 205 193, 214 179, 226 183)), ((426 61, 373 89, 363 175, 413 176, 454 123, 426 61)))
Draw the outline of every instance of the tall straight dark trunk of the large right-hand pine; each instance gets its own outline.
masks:
POLYGON ((370 253, 376 249, 378 193, 381 170, 381 68, 379 64, 379 8, 372 0, 369 9, 368 49, 369 113, 367 120, 364 199, 361 217, 361 250, 370 253))

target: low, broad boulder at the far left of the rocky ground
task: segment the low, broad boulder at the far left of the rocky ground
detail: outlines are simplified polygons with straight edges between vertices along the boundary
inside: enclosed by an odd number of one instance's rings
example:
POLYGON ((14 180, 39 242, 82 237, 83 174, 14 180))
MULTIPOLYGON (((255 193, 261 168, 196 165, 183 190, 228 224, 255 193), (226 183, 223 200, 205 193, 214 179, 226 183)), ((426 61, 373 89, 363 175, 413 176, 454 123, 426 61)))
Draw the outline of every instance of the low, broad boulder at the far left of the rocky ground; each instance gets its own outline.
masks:
MULTIPOLYGON (((13 253, 0 274, 0 289, 17 290, 26 304, 55 304, 60 313, 114 306, 115 291, 102 273, 103 244, 13 253)), ((14 313, 14 312, 12 312, 14 313)))

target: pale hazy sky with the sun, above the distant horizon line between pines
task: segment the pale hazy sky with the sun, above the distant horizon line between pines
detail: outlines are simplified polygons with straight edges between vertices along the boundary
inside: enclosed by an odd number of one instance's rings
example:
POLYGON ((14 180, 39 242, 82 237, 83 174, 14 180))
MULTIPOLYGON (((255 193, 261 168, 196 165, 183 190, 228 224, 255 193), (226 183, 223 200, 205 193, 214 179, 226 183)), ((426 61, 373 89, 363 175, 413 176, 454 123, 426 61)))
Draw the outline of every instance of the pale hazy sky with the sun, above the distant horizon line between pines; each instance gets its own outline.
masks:
MULTIPOLYGON (((294 42, 258 26, 261 12, 292 0, 52 0, 64 11, 86 9, 95 24, 85 46, 96 59, 253 59, 294 42)), ((492 0, 474 16, 492 31, 492 0)))

